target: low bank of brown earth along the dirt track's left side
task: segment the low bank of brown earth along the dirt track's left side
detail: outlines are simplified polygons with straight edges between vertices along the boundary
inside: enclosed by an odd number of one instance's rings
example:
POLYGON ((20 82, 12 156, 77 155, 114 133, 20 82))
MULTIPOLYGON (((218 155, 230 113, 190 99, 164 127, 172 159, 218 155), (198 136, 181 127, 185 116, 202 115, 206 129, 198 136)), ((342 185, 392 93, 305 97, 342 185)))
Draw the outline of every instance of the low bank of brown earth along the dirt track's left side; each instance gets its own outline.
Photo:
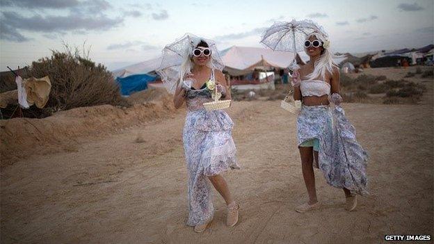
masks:
POLYGON ((12 164, 32 154, 73 152, 77 150, 79 138, 113 133, 175 113, 172 97, 167 92, 151 91, 143 97, 144 101, 130 108, 101 105, 73 108, 43 119, 1 120, 0 165, 12 164))

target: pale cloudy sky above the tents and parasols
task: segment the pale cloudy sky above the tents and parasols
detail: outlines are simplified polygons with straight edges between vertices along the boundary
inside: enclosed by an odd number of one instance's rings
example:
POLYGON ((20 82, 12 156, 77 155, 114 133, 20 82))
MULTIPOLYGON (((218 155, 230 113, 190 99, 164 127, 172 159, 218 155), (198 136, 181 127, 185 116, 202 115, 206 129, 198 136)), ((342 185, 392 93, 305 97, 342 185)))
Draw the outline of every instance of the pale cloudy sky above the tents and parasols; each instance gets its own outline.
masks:
POLYGON ((262 47, 264 29, 293 18, 321 24, 340 52, 422 47, 434 39, 433 0, 0 1, 1 71, 63 50, 62 43, 84 44, 110 70, 155 58, 187 32, 216 40, 219 49, 262 47))

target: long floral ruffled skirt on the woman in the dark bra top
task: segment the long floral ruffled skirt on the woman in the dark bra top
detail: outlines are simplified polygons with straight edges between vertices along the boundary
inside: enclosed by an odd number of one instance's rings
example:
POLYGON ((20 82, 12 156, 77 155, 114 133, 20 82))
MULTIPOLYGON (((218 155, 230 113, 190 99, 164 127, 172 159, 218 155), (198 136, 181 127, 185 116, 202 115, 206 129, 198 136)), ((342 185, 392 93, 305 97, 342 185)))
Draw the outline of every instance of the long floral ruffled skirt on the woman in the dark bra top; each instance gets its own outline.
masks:
POLYGON ((208 177, 230 168, 239 169, 232 139, 233 125, 225 111, 187 112, 183 140, 188 172, 189 226, 202 225, 214 216, 208 177))

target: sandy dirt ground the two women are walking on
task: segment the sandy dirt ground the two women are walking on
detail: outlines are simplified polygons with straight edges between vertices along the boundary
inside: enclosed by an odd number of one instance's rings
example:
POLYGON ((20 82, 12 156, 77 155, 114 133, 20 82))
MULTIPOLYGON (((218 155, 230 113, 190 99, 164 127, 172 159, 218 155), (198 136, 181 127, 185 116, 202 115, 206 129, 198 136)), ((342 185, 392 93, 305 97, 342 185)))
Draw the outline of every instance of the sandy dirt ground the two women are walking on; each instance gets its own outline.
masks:
POLYGON ((241 204, 236 227, 225 226, 216 191, 210 228, 196 234, 185 225, 179 111, 2 168, 1 243, 383 243, 385 234, 433 235, 433 81, 424 83, 421 104, 344 104, 370 154, 371 194, 359 197, 356 211, 345 211, 344 193, 316 171, 323 207, 296 213, 307 195, 295 115, 280 101, 238 101, 228 112, 242 169, 225 173, 241 204))

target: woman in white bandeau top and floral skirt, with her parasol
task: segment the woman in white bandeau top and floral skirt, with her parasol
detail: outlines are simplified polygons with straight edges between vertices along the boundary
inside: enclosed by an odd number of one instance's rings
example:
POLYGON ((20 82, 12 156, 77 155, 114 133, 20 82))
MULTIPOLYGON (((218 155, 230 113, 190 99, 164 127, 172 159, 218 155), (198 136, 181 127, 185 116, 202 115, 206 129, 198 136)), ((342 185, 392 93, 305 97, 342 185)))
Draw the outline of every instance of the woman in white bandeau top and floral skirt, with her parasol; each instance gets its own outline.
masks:
POLYGON ((320 206, 313 167, 321 170, 329 185, 344 190, 347 211, 357 206, 355 193, 367 194, 368 155, 357 143, 355 129, 341 108, 339 68, 335 63, 337 57, 332 54, 327 38, 321 26, 307 20, 275 24, 263 38, 270 47, 286 51, 298 50, 300 42, 310 58, 305 65, 294 70, 291 82, 294 99, 302 101, 296 123, 297 141, 309 195, 307 202, 296 207, 300 213, 320 206), (305 29, 296 35, 294 26, 305 29), (284 35, 285 32, 289 33, 289 37, 284 35), (279 34, 271 38, 272 33, 279 34), (335 104, 334 109, 330 107, 330 102, 335 104))

